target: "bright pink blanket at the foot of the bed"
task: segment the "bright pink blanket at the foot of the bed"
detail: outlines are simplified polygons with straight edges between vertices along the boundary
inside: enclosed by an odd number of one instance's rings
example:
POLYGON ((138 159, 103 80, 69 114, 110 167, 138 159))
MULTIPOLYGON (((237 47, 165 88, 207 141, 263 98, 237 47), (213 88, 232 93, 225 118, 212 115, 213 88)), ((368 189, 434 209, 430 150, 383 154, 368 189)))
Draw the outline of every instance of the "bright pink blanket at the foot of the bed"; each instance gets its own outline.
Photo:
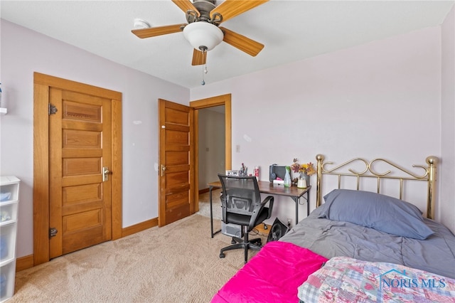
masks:
POLYGON ((299 302, 297 288, 327 260, 292 243, 269 242, 211 302, 299 302))

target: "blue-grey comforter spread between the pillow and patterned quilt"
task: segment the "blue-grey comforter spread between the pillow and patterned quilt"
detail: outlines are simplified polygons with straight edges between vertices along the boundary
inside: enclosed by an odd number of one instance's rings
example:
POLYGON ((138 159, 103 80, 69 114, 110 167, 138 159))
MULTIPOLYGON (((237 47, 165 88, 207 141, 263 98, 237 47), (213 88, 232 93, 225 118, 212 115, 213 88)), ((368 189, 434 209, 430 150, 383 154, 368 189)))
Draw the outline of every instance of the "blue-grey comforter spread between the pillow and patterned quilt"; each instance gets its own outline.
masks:
POLYGON ((324 205, 280 240, 308 248, 328 259, 345 256, 390 262, 455 279, 455 236, 444 225, 425 218, 434 234, 426 240, 416 240, 353 223, 318 218, 324 205))

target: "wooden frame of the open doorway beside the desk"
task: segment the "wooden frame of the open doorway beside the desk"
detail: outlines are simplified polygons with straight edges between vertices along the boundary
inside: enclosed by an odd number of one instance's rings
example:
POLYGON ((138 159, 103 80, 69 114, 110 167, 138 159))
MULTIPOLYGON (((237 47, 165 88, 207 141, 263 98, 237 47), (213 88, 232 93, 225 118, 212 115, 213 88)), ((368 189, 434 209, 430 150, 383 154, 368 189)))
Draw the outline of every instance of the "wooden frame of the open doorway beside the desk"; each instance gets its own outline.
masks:
POLYGON ((199 191, 197 190, 199 184, 199 150, 198 150, 198 132, 199 132, 199 112, 208 107, 215 107, 219 105, 225 106, 225 169, 232 169, 232 112, 231 112, 231 94, 219 95, 215 97, 208 97, 205 99, 194 100, 190 102, 190 107, 194 109, 194 212, 199 211, 199 191))

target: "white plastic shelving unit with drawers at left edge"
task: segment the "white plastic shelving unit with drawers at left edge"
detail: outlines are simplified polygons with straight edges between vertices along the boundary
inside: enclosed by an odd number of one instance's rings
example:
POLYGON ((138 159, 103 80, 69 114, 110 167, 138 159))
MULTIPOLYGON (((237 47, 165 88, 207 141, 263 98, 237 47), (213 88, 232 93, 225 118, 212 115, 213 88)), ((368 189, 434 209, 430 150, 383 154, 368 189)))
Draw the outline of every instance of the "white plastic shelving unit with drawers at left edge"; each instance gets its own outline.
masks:
POLYGON ((0 177, 0 302, 14 295, 20 182, 15 176, 0 177))

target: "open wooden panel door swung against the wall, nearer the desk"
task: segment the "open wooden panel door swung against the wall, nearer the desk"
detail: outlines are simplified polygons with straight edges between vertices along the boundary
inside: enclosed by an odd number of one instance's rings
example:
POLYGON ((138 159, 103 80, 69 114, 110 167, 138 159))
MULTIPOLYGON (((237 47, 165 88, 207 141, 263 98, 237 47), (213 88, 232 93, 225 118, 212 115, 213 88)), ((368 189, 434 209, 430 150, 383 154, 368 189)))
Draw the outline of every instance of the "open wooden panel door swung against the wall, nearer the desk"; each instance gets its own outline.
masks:
POLYGON ((159 226, 194 213, 193 109, 159 100, 159 226))

